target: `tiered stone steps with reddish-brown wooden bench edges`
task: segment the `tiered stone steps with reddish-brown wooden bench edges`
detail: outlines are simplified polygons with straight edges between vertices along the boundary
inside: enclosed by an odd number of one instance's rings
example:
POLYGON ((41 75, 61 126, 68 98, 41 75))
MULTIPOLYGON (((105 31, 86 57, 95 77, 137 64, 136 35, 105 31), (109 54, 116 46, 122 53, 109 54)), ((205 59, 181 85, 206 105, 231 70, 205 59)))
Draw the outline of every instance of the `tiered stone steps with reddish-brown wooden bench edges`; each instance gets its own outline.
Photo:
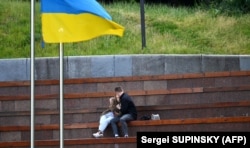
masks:
MULTIPOLYGON (((59 146, 59 80, 35 82, 36 147, 59 146)), ((136 147, 139 131, 250 131, 250 71, 224 71, 64 81, 64 144, 80 147, 136 147), (100 113, 113 89, 133 97, 138 120, 129 138, 113 138, 111 128, 95 139, 100 113), (140 120, 159 114, 161 120, 140 120)), ((30 145, 30 83, 0 82, 0 147, 30 145)))

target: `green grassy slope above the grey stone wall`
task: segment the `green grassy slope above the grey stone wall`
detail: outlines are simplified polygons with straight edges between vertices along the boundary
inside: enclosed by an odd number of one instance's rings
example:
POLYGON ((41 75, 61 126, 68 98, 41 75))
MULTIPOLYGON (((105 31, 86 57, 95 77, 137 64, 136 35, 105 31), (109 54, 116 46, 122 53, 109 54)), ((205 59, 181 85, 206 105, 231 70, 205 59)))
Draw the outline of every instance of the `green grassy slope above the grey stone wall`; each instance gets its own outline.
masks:
MULTIPOLYGON (((110 54, 250 54, 250 14, 226 16, 200 8, 145 5, 142 49, 139 4, 104 5, 125 27, 122 38, 102 36, 64 44, 65 56, 110 54)), ((59 55, 58 44, 41 46, 40 3, 35 12, 35 56, 59 55)), ((0 58, 30 57, 30 2, 0 0, 0 58)))

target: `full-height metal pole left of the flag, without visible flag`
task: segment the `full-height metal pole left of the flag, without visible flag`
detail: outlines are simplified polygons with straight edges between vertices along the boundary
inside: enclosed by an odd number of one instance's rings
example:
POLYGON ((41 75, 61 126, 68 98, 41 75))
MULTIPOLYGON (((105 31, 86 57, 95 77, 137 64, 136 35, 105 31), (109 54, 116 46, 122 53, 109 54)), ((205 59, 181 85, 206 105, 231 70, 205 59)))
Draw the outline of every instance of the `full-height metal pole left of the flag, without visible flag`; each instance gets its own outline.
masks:
POLYGON ((34 54, 34 13, 35 13, 35 0, 31 0, 31 19, 30 19, 30 41, 31 41, 31 47, 30 47, 30 147, 34 148, 35 143, 35 80, 34 80, 34 63, 35 63, 35 54, 34 54))

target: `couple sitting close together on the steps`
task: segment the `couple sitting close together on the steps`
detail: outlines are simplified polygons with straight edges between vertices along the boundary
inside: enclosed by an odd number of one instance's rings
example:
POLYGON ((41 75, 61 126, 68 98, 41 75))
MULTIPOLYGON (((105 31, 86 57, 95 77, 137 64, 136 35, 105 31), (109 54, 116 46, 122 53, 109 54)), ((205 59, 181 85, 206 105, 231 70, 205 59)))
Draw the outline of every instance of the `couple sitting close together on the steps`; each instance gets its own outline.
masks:
POLYGON ((114 137, 118 138, 117 123, 120 122, 124 137, 128 137, 127 122, 137 119, 137 110, 132 98, 124 92, 122 87, 116 87, 115 97, 111 97, 109 103, 108 109, 101 114, 98 132, 94 133, 93 136, 103 137, 105 129, 111 124, 114 137))

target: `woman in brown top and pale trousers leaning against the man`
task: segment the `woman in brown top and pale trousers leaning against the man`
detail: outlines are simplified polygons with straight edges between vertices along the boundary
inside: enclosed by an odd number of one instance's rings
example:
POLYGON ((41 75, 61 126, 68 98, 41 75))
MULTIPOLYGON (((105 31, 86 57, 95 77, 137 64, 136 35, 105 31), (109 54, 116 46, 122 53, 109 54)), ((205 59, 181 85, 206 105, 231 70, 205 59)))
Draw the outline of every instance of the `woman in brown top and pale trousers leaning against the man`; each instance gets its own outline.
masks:
POLYGON ((119 106, 118 99, 116 97, 109 98, 109 107, 101 114, 98 132, 93 133, 93 136, 95 138, 103 137, 104 130, 109 125, 110 120, 113 119, 115 116, 120 115, 120 110, 117 108, 117 106, 119 106))

